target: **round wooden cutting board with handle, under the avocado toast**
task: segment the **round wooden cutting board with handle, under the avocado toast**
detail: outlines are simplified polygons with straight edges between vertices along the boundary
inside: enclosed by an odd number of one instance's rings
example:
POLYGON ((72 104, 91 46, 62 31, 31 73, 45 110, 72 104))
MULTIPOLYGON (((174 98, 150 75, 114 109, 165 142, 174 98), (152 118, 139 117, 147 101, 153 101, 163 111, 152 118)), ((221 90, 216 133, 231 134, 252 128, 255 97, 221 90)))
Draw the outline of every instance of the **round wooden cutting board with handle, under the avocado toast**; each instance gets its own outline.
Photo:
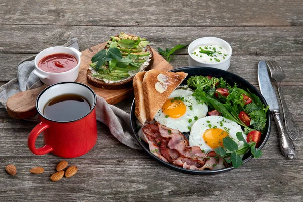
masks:
MULTIPOLYGON (((84 83, 91 87, 97 95, 103 97, 109 104, 116 104, 130 96, 133 96, 133 88, 130 87, 120 90, 106 90, 90 85, 86 79, 86 72, 89 67, 89 64, 91 63, 92 56, 95 55, 101 49, 103 49, 106 43, 107 42, 90 47, 81 52, 81 64, 79 68, 79 75, 76 81, 84 83)), ((156 52, 153 48, 151 49, 153 50, 154 55, 154 62, 151 66, 151 69, 158 69, 163 71, 173 69, 173 67, 164 58, 162 58, 162 56, 160 56, 158 52, 156 52)), ((46 87, 47 85, 43 85, 36 89, 27 90, 12 95, 7 100, 6 104, 9 115, 15 119, 26 119, 34 116, 37 113, 36 99, 39 93, 46 87)))

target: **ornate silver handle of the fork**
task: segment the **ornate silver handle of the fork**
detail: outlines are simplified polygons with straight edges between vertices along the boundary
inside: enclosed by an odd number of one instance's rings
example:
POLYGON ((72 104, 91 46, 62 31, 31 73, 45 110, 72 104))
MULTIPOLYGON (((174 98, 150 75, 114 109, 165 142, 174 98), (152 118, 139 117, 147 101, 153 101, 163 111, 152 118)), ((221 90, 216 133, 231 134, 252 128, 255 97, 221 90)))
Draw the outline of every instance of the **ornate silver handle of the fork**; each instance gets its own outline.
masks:
POLYGON ((288 110, 288 107, 285 103, 280 84, 278 84, 278 91, 279 91, 281 104, 282 104, 282 108, 283 108, 286 132, 289 135, 290 139, 297 140, 300 131, 299 131, 299 128, 297 127, 297 125, 295 124, 295 122, 288 110))

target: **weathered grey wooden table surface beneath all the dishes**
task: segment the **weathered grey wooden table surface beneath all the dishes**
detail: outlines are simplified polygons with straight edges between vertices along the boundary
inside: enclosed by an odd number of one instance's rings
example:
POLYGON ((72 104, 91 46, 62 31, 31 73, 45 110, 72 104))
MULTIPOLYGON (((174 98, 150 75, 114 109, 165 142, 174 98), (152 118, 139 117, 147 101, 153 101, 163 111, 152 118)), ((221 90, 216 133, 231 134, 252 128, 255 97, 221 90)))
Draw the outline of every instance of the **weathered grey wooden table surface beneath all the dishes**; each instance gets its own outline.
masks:
MULTIPOLYGON (((138 34, 155 49, 220 37, 233 48, 228 71, 258 87, 257 64, 275 60, 285 70, 283 93, 303 132, 303 4, 292 1, 16 1, 0 2, 0 82, 16 77, 17 64, 42 49, 79 39, 80 51, 120 31, 138 34)), ((188 66, 186 49, 171 61, 188 66)), ((276 89, 276 86, 274 86, 276 89)), ((129 112, 132 98, 117 107, 129 112)), ((120 143, 98 123, 98 142, 86 155, 67 159, 78 173, 52 182, 62 158, 33 155, 27 137, 35 123, 15 120, 0 106, 0 201, 303 201, 303 141, 292 160, 280 153, 272 123, 264 155, 214 176, 173 171, 143 151, 120 143), (14 164, 17 175, 5 166, 14 164), (29 169, 42 166, 40 175, 29 169)), ((39 136, 37 146, 43 145, 39 136)))

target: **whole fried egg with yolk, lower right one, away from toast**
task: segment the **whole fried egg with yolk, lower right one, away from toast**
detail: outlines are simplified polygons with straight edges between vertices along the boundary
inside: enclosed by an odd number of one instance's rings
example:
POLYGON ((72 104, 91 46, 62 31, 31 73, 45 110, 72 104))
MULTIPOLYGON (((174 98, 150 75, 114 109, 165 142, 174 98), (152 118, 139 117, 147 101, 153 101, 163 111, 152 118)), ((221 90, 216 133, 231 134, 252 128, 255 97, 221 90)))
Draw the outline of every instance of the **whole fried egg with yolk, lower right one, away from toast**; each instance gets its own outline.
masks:
POLYGON ((239 148, 242 148, 244 143, 238 140, 237 132, 241 132, 246 140, 246 135, 236 122, 222 116, 207 116, 199 119, 192 126, 189 145, 199 146, 204 150, 204 153, 208 153, 220 146, 224 148, 223 138, 230 137, 238 144, 239 148))

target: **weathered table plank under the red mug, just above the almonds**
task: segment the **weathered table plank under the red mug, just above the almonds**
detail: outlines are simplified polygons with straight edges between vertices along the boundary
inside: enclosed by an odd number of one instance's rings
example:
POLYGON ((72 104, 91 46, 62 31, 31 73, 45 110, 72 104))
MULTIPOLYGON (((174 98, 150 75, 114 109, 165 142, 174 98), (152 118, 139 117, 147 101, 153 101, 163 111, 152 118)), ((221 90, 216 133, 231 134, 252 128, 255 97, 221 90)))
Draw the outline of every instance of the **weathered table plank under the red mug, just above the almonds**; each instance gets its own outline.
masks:
MULTIPOLYGON (((131 99, 126 102, 117 104, 117 107, 122 107, 129 112, 129 105, 131 99)), ((292 107, 289 105, 289 108, 292 107)), ((303 131, 303 125, 300 124, 301 114, 293 113, 294 120, 299 126, 299 130, 303 131)), ((7 114, 7 112, 0 108, 0 128, 2 129, 0 142, 0 158, 38 158, 38 159, 59 159, 58 157, 47 154, 44 156, 36 156, 32 154, 27 147, 27 137, 30 131, 34 128, 36 123, 27 122, 24 120, 15 120, 7 114)), ((120 143, 114 136, 110 134, 109 129, 102 123, 98 122, 98 141, 95 147, 86 155, 77 159, 96 159, 96 158, 117 158, 117 159, 149 159, 153 161, 144 151, 131 149, 120 143)), ((303 147, 303 141, 300 139, 295 141, 297 148, 303 147)), ((36 142, 37 147, 43 146, 42 135, 38 137, 36 142)), ((280 153, 279 139, 277 127, 272 121, 271 135, 268 143, 263 149, 264 155, 261 159, 285 159, 280 153)), ((303 151, 296 150, 296 159, 302 159, 303 151)), ((259 161, 255 160, 255 161, 259 161)))

